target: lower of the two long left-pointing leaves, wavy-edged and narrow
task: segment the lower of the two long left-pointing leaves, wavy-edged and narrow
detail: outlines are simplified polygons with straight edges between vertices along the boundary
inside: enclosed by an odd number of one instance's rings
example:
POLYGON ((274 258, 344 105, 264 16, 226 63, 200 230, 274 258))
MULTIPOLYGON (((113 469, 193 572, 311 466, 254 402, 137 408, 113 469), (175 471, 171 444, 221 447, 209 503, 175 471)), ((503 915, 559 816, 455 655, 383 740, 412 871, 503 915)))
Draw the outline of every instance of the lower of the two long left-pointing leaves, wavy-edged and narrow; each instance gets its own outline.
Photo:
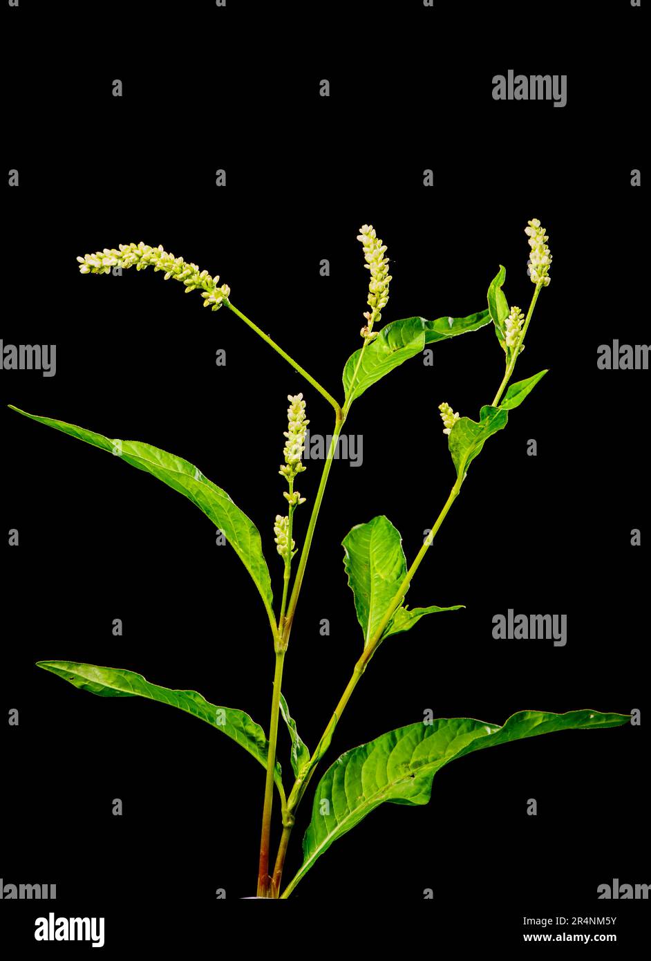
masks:
MULTIPOLYGON (((267 767, 269 744, 265 733, 244 711, 232 707, 218 707, 207 702, 197 691, 173 691, 168 687, 158 687, 157 684, 150 684, 141 674, 120 668, 98 667, 95 664, 80 664, 78 661, 37 661, 36 666, 69 681, 80 690, 90 691, 102 698, 148 698, 150 701, 179 707, 181 711, 187 711, 211 727, 221 730, 252 754, 263 768, 267 767)), ((284 799, 278 763, 274 779, 280 796, 284 799)))

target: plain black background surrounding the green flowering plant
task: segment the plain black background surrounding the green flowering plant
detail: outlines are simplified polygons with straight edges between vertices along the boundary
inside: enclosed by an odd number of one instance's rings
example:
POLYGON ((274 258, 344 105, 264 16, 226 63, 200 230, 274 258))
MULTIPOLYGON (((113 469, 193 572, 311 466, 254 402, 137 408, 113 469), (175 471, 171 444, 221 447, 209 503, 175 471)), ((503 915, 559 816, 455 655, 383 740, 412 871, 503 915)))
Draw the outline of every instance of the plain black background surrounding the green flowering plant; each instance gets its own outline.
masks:
MULTIPOLYGON (((325 401, 227 309, 202 310, 198 294, 184 298, 153 270, 82 277, 75 258, 142 239, 219 273, 232 303, 339 397, 366 309, 360 224, 388 245, 383 323, 484 308, 499 263, 509 302, 526 308, 522 231, 536 216, 549 234, 552 283, 518 377, 550 373, 473 463, 410 592, 412 605, 466 609, 382 647, 330 763, 427 708, 496 724, 525 708, 643 712, 645 531, 640 548, 630 538, 648 514, 648 374, 596 367, 599 344, 648 341, 647 231, 630 186, 640 12, 612 6, 592 23, 598 43, 541 30, 542 12, 522 5, 502 23, 387 5, 367 14, 373 28, 361 6, 359 23, 336 5, 162 5, 129 20, 75 5, 5 11, 5 165, 20 186, 5 192, 1 334, 58 349, 56 377, 0 371, 0 400, 197 464, 260 529, 278 595, 286 396, 303 391, 318 433, 332 427, 325 401), (492 78, 509 68, 566 73, 567 107, 495 103, 492 78), (526 456, 530 438, 538 456, 526 456), (494 641, 493 616, 509 607, 567 613, 567 647, 494 641)), ((556 8, 545 11, 553 23, 556 8)), ((485 328, 435 345, 432 367, 416 357, 353 406, 345 430, 363 435, 363 464, 333 467, 283 679, 308 745, 361 651, 343 537, 386 513, 411 560, 454 479, 437 406, 476 418, 501 376, 485 328)), ((273 650, 253 585, 205 517, 162 484, 6 407, 0 417, 4 527, 20 534, 3 576, 0 703, 19 709, 20 725, 0 727, 0 875, 58 889, 51 904, 3 901, 0 924, 28 951, 34 918, 52 908, 105 916, 109 951, 133 932, 155 949, 214 947, 215 925, 252 936, 236 902, 254 894, 262 769, 181 712, 92 698, 34 665, 123 667, 267 728, 273 650), (118 617, 124 634, 113 637, 118 617)), ((318 477, 308 462, 299 537, 318 477)), ((327 851, 297 888, 295 915, 361 909, 388 930, 424 923, 433 946, 450 933, 459 945, 518 946, 522 915, 612 915, 620 945, 633 945, 642 902, 597 900, 596 888, 648 881, 644 730, 569 731, 455 762, 429 805, 384 805, 327 851), (434 899, 423 909, 425 888, 434 899)), ((287 748, 281 731, 286 773, 287 748)))

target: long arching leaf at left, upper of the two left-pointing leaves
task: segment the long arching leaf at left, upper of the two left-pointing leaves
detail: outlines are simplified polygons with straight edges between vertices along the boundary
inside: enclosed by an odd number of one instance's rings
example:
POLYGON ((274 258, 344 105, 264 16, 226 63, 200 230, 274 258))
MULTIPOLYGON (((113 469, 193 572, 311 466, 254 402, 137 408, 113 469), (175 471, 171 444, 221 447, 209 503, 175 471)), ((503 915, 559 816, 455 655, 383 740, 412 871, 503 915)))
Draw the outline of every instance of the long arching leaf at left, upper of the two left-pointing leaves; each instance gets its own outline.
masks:
MULTIPOLYGON (((262 554, 259 531, 253 521, 237 505, 233 504, 226 491, 214 484, 212 480, 205 478, 193 464, 183 460, 182 457, 152 447, 151 444, 143 444, 137 440, 109 440, 109 437, 105 437, 101 433, 86 431, 84 428, 75 427, 74 424, 52 420, 50 417, 37 417, 36 414, 27 413, 27 411, 20 410, 19 407, 13 407, 12 405, 10 407, 19 414, 38 421, 39 424, 45 424, 57 431, 68 433, 71 437, 77 437, 87 444, 92 444, 94 447, 99 447, 103 451, 116 455, 120 460, 125 460, 133 467, 137 467, 138 470, 146 471, 158 480, 162 480, 163 483, 179 491, 194 505, 197 505, 210 518, 212 523, 225 534, 235 554, 238 555, 251 574, 267 608, 270 620, 274 621, 271 578, 267 562, 262 554)), ((72 482, 76 480, 73 478, 72 482)))

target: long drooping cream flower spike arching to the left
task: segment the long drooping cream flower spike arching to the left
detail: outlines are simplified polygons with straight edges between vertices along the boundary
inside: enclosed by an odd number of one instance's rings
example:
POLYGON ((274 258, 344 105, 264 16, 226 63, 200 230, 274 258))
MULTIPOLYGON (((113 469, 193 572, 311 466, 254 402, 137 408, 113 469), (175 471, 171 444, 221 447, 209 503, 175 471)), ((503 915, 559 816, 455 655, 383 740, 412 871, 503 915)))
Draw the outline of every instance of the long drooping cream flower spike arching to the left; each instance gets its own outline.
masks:
POLYGON ((135 266, 136 270, 145 270, 153 266, 155 270, 164 270, 166 281, 173 277, 175 281, 185 284, 185 293, 201 287, 204 307, 211 307, 213 310, 219 310, 230 293, 228 283, 217 286, 219 277, 210 277, 207 270, 200 273, 196 263, 186 263, 182 257, 168 254, 162 246, 149 247, 142 241, 121 243, 119 250, 105 247, 96 254, 86 254, 77 259, 83 274, 109 274, 112 267, 135 266))

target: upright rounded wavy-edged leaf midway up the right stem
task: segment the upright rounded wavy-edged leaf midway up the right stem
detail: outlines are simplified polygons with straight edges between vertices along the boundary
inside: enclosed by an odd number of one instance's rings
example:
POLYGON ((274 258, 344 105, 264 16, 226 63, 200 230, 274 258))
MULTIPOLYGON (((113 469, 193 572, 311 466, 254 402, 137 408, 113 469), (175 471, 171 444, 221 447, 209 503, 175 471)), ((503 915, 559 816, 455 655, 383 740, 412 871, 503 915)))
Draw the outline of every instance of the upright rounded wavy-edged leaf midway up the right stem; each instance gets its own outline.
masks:
POLYGON ((346 552, 344 568, 366 648, 407 573, 402 538, 391 521, 380 514, 368 524, 352 528, 342 544, 346 552))

